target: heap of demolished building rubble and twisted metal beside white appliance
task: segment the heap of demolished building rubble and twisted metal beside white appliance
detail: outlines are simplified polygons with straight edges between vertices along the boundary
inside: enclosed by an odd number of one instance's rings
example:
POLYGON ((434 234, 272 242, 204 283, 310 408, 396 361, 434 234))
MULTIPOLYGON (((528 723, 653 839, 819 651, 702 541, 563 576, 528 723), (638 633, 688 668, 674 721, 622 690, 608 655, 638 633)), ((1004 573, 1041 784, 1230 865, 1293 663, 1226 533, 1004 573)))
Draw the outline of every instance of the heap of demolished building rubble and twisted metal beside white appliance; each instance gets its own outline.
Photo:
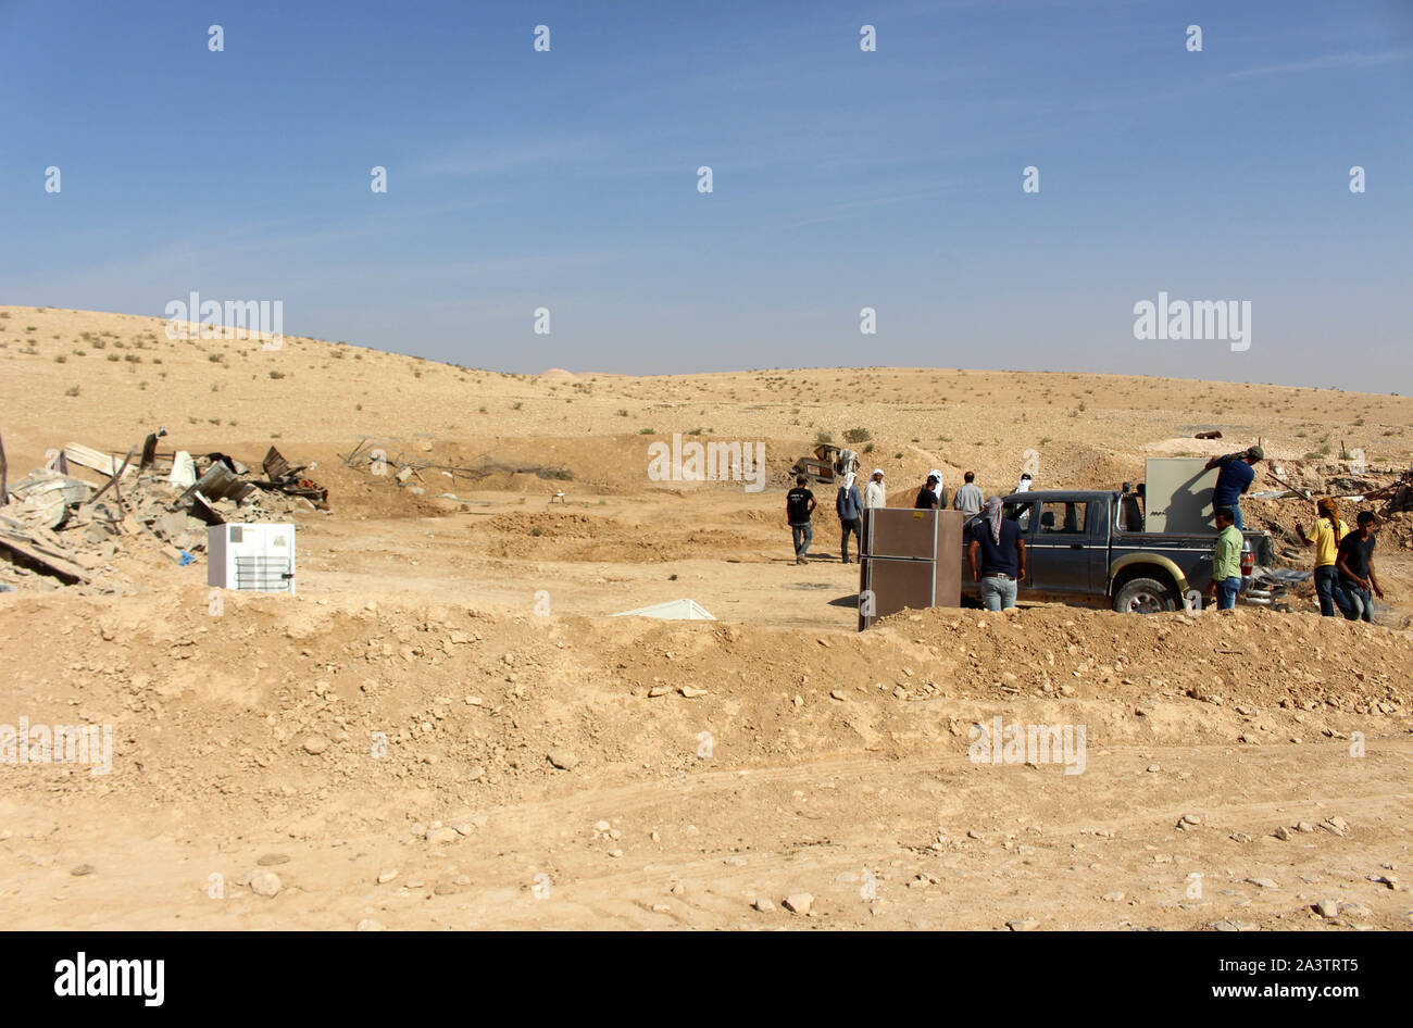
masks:
POLYGON ((69 443, 42 469, 4 486, 0 592, 75 586, 113 593, 131 582, 114 566, 123 554, 146 548, 185 566, 205 552, 211 525, 328 510, 328 490, 274 446, 259 477, 226 453, 158 453, 162 435, 148 435, 124 459, 69 443))

